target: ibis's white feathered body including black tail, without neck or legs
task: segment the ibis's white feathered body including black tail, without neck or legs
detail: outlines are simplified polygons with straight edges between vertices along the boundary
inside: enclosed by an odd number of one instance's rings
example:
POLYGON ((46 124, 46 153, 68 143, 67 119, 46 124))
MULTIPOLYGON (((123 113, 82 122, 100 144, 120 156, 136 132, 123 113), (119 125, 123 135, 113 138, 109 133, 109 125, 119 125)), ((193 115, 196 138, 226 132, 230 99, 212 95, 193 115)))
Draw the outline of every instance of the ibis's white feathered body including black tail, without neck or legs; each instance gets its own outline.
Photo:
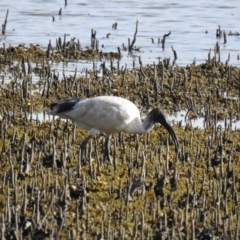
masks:
POLYGON ((127 99, 114 96, 61 100, 53 105, 49 113, 70 118, 80 128, 96 129, 107 134, 136 132, 135 128, 141 124, 137 107, 127 99))

